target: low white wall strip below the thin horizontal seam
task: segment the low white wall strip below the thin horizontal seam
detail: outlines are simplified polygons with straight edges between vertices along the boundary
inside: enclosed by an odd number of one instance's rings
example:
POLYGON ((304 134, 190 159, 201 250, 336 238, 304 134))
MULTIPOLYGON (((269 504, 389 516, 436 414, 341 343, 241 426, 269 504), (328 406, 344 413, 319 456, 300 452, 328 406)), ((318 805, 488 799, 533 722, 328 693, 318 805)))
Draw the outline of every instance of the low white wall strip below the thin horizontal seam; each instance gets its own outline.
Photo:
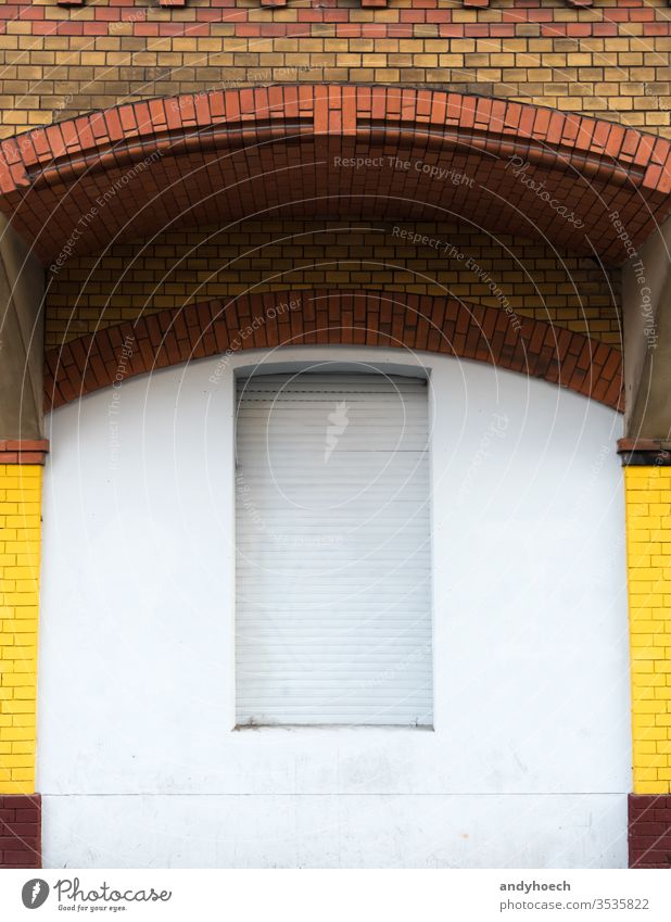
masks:
POLYGON ((622 868, 623 794, 47 797, 45 867, 622 868))

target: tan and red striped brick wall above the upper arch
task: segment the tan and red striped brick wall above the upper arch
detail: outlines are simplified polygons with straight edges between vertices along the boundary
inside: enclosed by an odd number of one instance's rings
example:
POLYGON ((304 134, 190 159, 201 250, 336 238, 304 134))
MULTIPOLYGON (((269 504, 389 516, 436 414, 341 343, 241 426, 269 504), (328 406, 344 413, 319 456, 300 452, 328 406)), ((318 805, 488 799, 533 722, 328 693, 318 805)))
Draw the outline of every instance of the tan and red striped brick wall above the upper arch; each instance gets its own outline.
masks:
POLYGON ((295 81, 442 87, 671 138, 666 0, 0 7, 4 136, 121 101, 295 81))

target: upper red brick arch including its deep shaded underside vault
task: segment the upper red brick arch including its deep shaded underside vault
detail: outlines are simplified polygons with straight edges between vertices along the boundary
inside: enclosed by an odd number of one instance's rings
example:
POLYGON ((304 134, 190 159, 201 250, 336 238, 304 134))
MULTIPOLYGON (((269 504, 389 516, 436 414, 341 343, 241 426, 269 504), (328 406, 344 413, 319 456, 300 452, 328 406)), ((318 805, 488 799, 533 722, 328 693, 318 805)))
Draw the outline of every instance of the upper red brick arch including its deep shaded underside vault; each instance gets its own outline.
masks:
POLYGON ((73 238, 93 253, 119 235, 252 214, 461 216, 619 264, 613 213, 643 241, 669 212, 670 166, 664 138, 574 113, 275 86, 138 101, 7 139, 0 210, 56 268, 73 238))

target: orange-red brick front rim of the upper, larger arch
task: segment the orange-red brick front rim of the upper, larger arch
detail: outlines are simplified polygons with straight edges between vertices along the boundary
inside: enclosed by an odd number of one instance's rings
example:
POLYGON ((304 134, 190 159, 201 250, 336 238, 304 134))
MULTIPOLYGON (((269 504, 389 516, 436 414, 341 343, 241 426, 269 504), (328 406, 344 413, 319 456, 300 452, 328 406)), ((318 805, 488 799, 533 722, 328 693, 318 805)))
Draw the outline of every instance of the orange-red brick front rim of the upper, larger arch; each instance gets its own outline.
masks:
POLYGON ((261 137, 273 126, 309 128, 316 135, 353 135, 382 127, 453 129, 478 137, 477 148, 502 146, 532 160, 573 162, 621 184, 638 176, 650 191, 671 192, 671 141, 615 122, 491 97, 412 87, 280 85, 208 90, 138 100, 91 112, 0 141, 0 192, 39 180, 45 170, 67 182, 90 172, 165 150, 170 134, 188 146, 207 141, 224 126, 261 137), (210 135, 207 132, 211 132, 210 135), (88 157, 88 160, 87 160, 88 157))

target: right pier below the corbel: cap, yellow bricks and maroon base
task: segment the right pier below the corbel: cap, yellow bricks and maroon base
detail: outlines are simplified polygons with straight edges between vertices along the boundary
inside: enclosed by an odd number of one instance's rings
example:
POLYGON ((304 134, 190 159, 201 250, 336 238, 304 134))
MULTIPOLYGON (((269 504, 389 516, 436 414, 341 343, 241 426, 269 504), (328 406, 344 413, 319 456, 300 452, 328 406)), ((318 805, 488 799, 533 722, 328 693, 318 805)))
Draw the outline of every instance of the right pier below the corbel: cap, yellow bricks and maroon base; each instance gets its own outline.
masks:
MULTIPOLYGON (((620 443, 625 465, 634 868, 671 868, 671 452, 620 443)), ((670 446, 671 447, 671 446, 670 446)))

